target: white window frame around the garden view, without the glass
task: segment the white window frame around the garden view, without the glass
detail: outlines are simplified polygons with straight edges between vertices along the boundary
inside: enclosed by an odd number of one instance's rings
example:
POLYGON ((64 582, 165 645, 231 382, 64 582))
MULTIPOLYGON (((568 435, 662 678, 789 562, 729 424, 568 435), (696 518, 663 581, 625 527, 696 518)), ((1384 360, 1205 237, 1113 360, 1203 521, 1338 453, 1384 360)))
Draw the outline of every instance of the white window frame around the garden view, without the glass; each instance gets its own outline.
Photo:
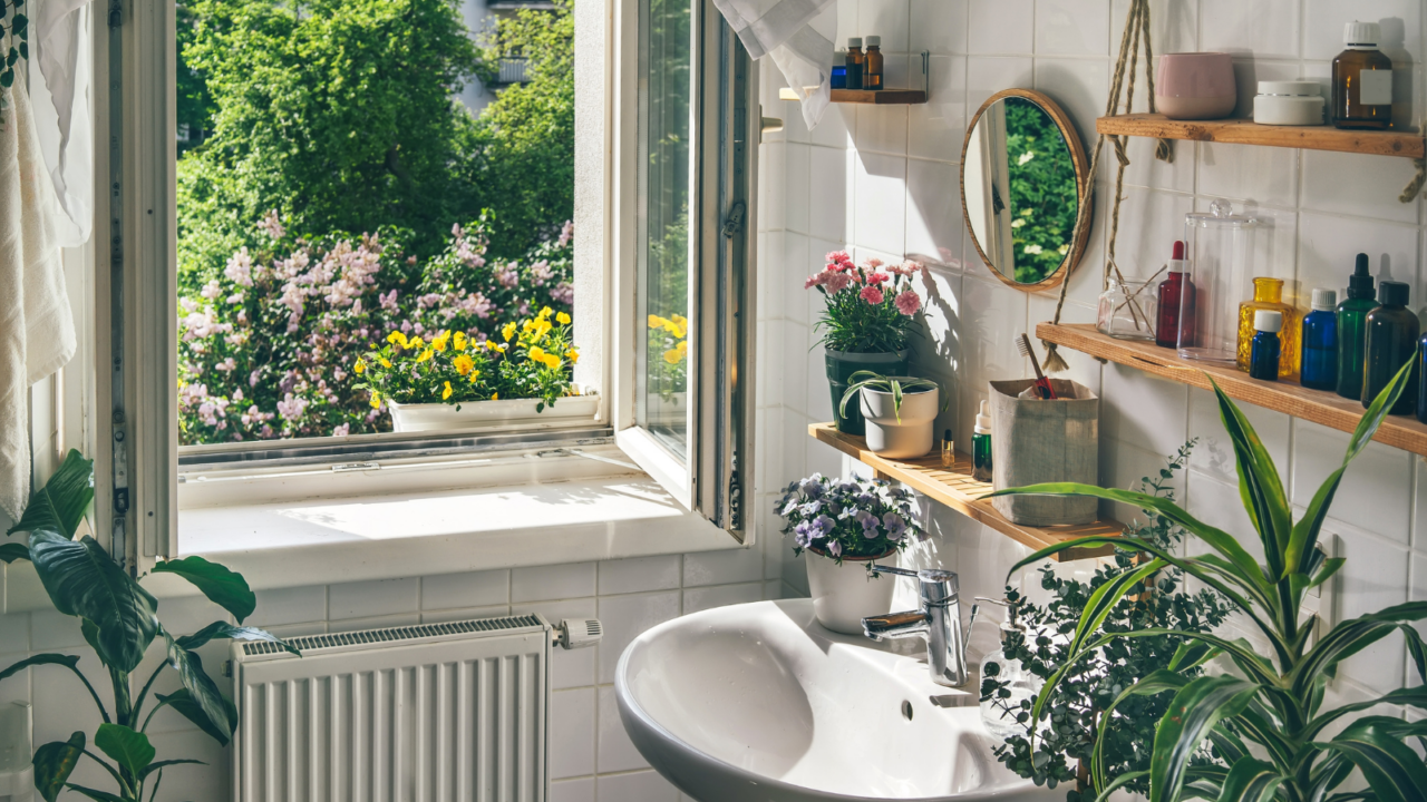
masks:
MULTIPOLYGON (((579 93, 598 91, 602 101, 602 126, 592 127, 579 123, 577 110, 577 160, 581 154, 596 156, 598 173, 577 168, 577 211, 581 238, 577 238, 577 320, 588 320, 588 325, 577 330, 578 344, 585 360, 577 365, 577 381, 596 384, 601 388, 601 410, 594 420, 571 421, 565 427, 542 425, 537 430, 581 428, 609 425, 614 430, 614 445, 594 445, 586 454, 564 454, 561 460, 542 461, 541 469, 532 471, 534 481, 569 481, 589 477, 595 468, 591 462, 605 462, 606 472, 628 472, 626 460, 656 479, 685 508, 701 512, 718 527, 729 531, 743 545, 752 544, 755 515, 738 515, 736 504, 729 495, 752 499, 752 471, 732 472, 732 452, 738 450, 739 460, 749 468, 753 465, 753 237, 755 228, 753 186, 756 176, 756 64, 743 56, 742 78, 738 88, 748 98, 739 120, 736 134, 746 151, 745 184, 741 193, 746 196, 742 230, 733 240, 718 237, 725 221, 725 210, 716 207, 718 196, 701 198, 701 231, 696 254, 691 254, 691 277, 698 274, 691 288, 689 335, 691 352, 699 352, 698 370, 691 370, 689 440, 691 461, 682 465, 666 450, 652 442, 646 431, 634 422, 634 347, 635 335, 642 327, 631 310, 636 308, 635 260, 632 241, 632 204, 638 203, 636 173, 629 173, 631 148, 638 137, 638 47, 639 47, 639 1, 605 0, 599 27, 586 26, 585 31, 604 31, 602 81, 591 80, 578 64, 577 51, 577 106, 579 93), (591 140, 595 140, 594 143, 591 140), (628 173, 628 176, 626 176, 628 173), (591 190, 602 184, 602 193, 591 190), (599 198, 598 194, 604 197, 599 198), (591 203, 595 201, 595 203, 591 203), (591 225, 591 224, 595 225, 591 225), (718 248, 742 248, 746 261, 738 265, 736 298, 729 297, 732 283, 726 280, 729 270, 694 270, 695 264, 719 264, 728 260, 718 248), (698 260, 692 258, 698 255, 698 260), (584 265, 584 268, 582 268, 584 265), (719 277, 726 287, 719 295, 719 277), (598 298, 598 301, 592 300, 598 298), (722 304, 722 305, 719 305, 722 304), (738 325, 718 325, 708 315, 719 308, 741 310, 738 325), (738 354, 732 362, 716 358, 716 341, 735 344, 738 354), (598 354, 598 358, 591 358, 598 354), (718 371, 733 370, 741 381, 721 381, 718 371), (696 377, 695 377, 696 372, 696 377), (698 397, 694 398, 695 392, 698 397), (739 431, 728 425, 733 404, 743 410, 743 424, 739 431), (721 411, 722 405, 722 411, 721 411), (722 428, 721 428, 722 427, 722 428), (625 457, 628 455, 628 457, 625 457), (589 457, 585 460, 582 457, 589 457), (611 465, 611 462, 614 465, 611 465), (702 482, 701 482, 702 479, 702 482)), ((646 0, 644 0, 646 1, 646 0)), ((121 0, 120 24, 94 26, 94 66, 98 73, 94 80, 96 104, 96 221, 94 243, 94 358, 97 375, 93 387, 94 457, 96 457, 96 528, 114 554, 128 562, 134 571, 147 571, 156 559, 178 557, 178 427, 177 427, 177 224, 176 224, 176 13, 168 0, 140 3, 121 0), (121 80, 111 84, 107 76, 121 70, 121 80), (111 98, 111 87, 120 93, 111 98), (111 103, 117 100, 117 103, 111 103), (113 137, 111 133, 121 136, 113 137), (114 150, 111 143, 117 143, 114 150), (117 291, 117 294, 116 294, 117 291), (121 298, 114 301, 113 298, 121 298), (158 355, 157 358, 154 355, 158 355), (110 365, 101 370, 98 365, 110 365), (116 492, 117 491, 117 492, 116 492), (127 495, 128 508, 120 509, 118 498, 127 495)), ((113 9, 113 6, 111 6, 113 9)), ((695 7, 699 16, 696 37, 704 70, 695 94, 692 110, 698 118, 718 118, 719 103, 733 91, 731 81, 719 83, 721 68, 728 71, 715 56, 719 53, 719 37, 735 40, 718 16, 709 0, 695 7), (712 87, 712 88, 709 88, 712 87), (725 97, 721 97, 719 93, 725 97)), ((588 4, 577 4, 577 41, 581 46, 579 14, 588 13, 588 4)), ((98 20, 96 20, 98 21, 98 20)), ((588 117, 588 116, 586 116, 588 117)), ((698 118, 691 127, 699 131, 698 118)), ((588 121, 588 118, 585 120, 588 121)), ((735 134, 732 120, 723 131, 725 138, 735 134)), ((696 138, 699 174, 694 187, 712 187, 716 181, 719 161, 718 137, 696 138), (711 183, 712 181, 712 183, 711 183)), ((725 160, 726 161, 726 160, 725 160)), ((692 235, 691 235, 692 238, 692 235)), ((451 432, 461 437, 479 432, 451 432)), ((340 442, 388 444, 410 441, 410 435, 357 435, 352 438, 304 438, 301 445, 331 445, 340 442)), ((288 441, 291 444, 291 441, 288 441)), ((271 441, 258 444, 233 444, 195 447, 194 452, 227 454, 254 450, 270 450, 271 441)), ((549 454, 551 445, 535 442, 524 448, 512 447, 501 457, 549 454), (547 451, 539 451, 539 450, 547 451)), ((184 450, 186 454, 190 448, 184 450)), ((434 464, 450 461, 448 468, 435 465, 445 478, 444 487, 489 487, 509 481, 509 471, 472 465, 478 460, 461 457, 428 457, 424 461, 408 458, 405 462, 420 462, 420 471, 432 472, 434 464)), ((342 461, 340 458, 334 461, 342 461)), ((397 458, 392 462, 402 462, 397 458)), ((497 461, 498 462, 498 461, 497 461)), ((330 467, 330 465, 328 465, 330 467)), ((384 464, 385 467, 385 464, 384 464)), ((594 471, 598 472, 598 471, 594 471)), ((398 482, 410 485, 411 482, 398 482)), ((440 484, 440 482, 438 482, 440 484)), ((233 481, 230 495, 218 485, 205 487, 200 494, 201 505, 211 507, 224 501, 234 505, 253 502, 257 498, 273 498, 281 492, 295 492, 303 498, 340 498, 370 495, 374 482, 371 477, 342 477, 330 469, 294 471, 280 465, 260 465, 247 472, 243 481, 233 481), (291 484, 303 484, 293 491, 291 484), (271 479, 270 484, 264 481, 271 479), (283 488, 287 487, 284 491, 283 488)), ((428 482, 430 487, 430 482, 428 482)), ((187 502, 186 502, 187 505, 187 502)), ((731 544, 733 545, 733 544, 731 544)))

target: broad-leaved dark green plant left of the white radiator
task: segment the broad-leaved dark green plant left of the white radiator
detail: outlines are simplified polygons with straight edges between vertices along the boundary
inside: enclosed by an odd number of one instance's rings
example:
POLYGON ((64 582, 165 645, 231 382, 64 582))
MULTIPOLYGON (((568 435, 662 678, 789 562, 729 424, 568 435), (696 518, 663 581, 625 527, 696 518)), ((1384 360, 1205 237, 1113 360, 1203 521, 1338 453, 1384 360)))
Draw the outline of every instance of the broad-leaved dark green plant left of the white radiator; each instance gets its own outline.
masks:
POLYGON ((29 532, 27 542, 0 544, 0 559, 27 559, 34 564, 54 608, 80 619, 84 641, 94 648, 108 674, 110 704, 104 704, 98 691, 78 669, 77 655, 33 655, 0 671, 0 681, 30 666, 68 669, 94 699, 104 722, 98 725, 93 739, 84 732, 76 732, 68 741, 44 743, 34 751, 34 786, 46 802, 54 802, 66 788, 100 802, 141 802, 147 789, 148 801, 153 802, 166 769, 200 762, 187 758, 157 759, 153 743, 144 735, 154 714, 170 708, 220 743, 228 742, 237 725, 237 709, 204 672, 195 649, 213 639, 231 638, 271 641, 293 654, 297 651, 263 629, 243 626, 243 619, 257 606, 257 598, 241 575, 201 557, 160 562, 154 572, 183 577, 210 601, 233 614, 238 625, 214 621, 193 635, 168 632, 158 621, 158 599, 130 577, 94 538, 74 537, 93 499, 94 462, 83 458, 78 451, 70 451, 60 469, 34 494, 20 522, 6 532, 29 532), (136 695, 136 681, 140 676, 134 671, 156 641, 164 651, 164 659, 137 686, 136 695), (181 686, 164 695, 156 692, 154 684, 167 671, 178 675, 181 686), (96 755, 91 745, 103 756, 96 755), (68 782, 83 758, 104 768, 114 782, 114 791, 68 782))

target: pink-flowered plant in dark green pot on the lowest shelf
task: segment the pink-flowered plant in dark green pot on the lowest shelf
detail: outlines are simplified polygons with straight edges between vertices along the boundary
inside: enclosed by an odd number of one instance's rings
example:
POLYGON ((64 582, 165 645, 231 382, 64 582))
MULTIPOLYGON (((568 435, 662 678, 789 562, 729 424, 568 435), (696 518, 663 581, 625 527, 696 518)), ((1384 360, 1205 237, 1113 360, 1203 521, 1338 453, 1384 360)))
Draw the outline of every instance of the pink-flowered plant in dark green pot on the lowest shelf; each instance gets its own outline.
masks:
POLYGON ((818 328, 823 331, 821 342, 838 431, 855 435, 865 431, 860 408, 852 407, 843 415, 839 404, 852 374, 862 370, 886 375, 908 372, 912 315, 922 308, 912 275, 922 270, 915 261, 888 267, 878 258, 858 267, 846 251, 832 251, 822 273, 808 277, 803 284, 805 288, 816 287, 825 300, 818 328))

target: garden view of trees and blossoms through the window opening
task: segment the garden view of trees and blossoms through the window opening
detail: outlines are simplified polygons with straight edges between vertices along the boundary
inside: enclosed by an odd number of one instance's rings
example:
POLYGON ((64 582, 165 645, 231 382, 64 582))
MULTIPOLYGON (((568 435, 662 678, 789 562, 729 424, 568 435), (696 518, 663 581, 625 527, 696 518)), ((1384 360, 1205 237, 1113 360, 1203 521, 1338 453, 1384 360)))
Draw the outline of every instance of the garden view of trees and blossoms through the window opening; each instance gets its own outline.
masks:
POLYGON ((177 47, 181 442, 588 408, 571 0, 183 0, 177 47))

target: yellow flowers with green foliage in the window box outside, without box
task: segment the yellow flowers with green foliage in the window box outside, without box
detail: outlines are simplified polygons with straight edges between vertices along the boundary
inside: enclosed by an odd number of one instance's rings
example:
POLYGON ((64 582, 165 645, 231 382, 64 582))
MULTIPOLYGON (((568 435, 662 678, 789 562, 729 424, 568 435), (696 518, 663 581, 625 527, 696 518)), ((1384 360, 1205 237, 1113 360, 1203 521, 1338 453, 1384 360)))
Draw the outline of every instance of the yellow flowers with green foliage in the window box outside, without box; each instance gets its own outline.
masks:
POLYGON ((451 404, 539 398, 535 411, 557 398, 578 395, 571 318, 545 307, 535 317, 507 323, 489 338, 464 331, 410 337, 392 331, 355 365, 357 390, 367 390, 374 410, 398 404, 451 404))

